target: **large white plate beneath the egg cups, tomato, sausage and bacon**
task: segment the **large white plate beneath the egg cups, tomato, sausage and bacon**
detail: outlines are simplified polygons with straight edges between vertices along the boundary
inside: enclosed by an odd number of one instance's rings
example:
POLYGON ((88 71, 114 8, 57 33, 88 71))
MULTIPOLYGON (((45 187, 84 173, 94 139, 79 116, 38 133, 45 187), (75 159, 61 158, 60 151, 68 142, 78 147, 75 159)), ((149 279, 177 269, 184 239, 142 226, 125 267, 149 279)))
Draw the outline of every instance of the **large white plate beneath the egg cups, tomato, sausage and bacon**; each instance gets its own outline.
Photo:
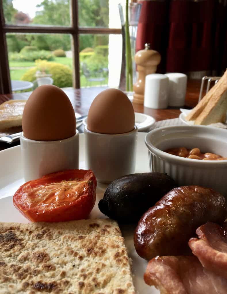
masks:
MULTIPOLYGON (((136 173, 149 172, 148 150, 145 146, 144 139, 146 133, 139 133, 137 140, 136 155, 136 173)), ((1 222, 29 222, 14 208, 12 195, 20 185, 24 183, 23 169, 21 166, 20 146, 15 146, 0 151, 0 162, 4 168, 0 169, 0 221, 1 222)), ((79 168, 85 168, 84 160, 84 134, 79 135, 79 168)), ((90 215, 91 218, 106 218, 98 209, 98 202, 102 199, 107 185, 98 184, 96 193, 96 203, 90 215)), ((138 199, 140 201, 140 199, 138 199)), ((120 226, 122 235, 125 238, 130 258, 132 258, 134 285, 137 293, 140 294, 158 294, 160 293, 154 287, 149 287, 143 280, 143 274, 147 267, 147 261, 140 258, 133 244, 133 230, 131 226, 120 226)))

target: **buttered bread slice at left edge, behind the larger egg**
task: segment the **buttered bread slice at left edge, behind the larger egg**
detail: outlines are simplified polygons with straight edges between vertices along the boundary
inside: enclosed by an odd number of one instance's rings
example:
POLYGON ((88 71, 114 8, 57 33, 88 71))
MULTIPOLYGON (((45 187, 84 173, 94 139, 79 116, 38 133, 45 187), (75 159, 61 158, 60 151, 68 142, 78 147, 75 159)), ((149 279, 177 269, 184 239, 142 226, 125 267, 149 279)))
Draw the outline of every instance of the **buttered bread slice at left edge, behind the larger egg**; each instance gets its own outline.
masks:
POLYGON ((9 100, 0 104, 0 131, 22 126, 26 100, 9 100))

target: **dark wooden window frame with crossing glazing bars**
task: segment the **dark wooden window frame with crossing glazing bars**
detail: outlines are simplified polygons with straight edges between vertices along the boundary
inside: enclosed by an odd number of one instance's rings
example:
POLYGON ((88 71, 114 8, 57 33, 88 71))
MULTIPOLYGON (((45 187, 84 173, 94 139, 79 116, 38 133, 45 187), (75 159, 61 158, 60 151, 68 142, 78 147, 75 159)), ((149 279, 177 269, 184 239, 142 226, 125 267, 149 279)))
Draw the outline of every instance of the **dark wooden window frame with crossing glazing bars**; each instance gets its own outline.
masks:
POLYGON ((22 26, 5 24, 3 3, 0 1, 0 93, 11 93, 6 33, 71 34, 73 52, 73 87, 80 88, 79 34, 121 34, 121 29, 79 27, 78 0, 71 0, 72 26, 22 26))

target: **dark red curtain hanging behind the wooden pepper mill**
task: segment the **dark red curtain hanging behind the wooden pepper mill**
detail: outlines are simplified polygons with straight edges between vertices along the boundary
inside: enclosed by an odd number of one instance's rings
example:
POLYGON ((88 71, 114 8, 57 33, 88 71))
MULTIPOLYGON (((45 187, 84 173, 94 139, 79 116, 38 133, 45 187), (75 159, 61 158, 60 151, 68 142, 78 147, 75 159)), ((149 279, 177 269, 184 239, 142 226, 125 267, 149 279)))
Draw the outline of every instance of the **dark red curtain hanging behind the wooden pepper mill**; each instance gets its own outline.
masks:
POLYGON ((140 1, 136 50, 160 52, 160 72, 222 71, 227 66, 226 1, 140 1))

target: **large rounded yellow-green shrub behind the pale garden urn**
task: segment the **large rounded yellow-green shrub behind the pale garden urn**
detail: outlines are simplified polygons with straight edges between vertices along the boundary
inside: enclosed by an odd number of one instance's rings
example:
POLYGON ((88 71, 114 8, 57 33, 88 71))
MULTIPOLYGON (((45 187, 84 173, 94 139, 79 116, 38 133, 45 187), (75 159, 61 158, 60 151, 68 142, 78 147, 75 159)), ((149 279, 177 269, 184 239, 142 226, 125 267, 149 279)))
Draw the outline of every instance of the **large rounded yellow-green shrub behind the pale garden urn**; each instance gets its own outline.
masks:
MULTIPOLYGON (((46 69, 50 74, 52 74, 53 84, 60 88, 64 87, 72 87, 72 70, 63 64, 59 64, 57 62, 48 62, 48 61, 41 61, 45 64, 46 69)), ((29 81, 32 82, 36 79, 35 73, 37 72, 37 66, 29 69, 22 77, 22 81, 29 81)))

